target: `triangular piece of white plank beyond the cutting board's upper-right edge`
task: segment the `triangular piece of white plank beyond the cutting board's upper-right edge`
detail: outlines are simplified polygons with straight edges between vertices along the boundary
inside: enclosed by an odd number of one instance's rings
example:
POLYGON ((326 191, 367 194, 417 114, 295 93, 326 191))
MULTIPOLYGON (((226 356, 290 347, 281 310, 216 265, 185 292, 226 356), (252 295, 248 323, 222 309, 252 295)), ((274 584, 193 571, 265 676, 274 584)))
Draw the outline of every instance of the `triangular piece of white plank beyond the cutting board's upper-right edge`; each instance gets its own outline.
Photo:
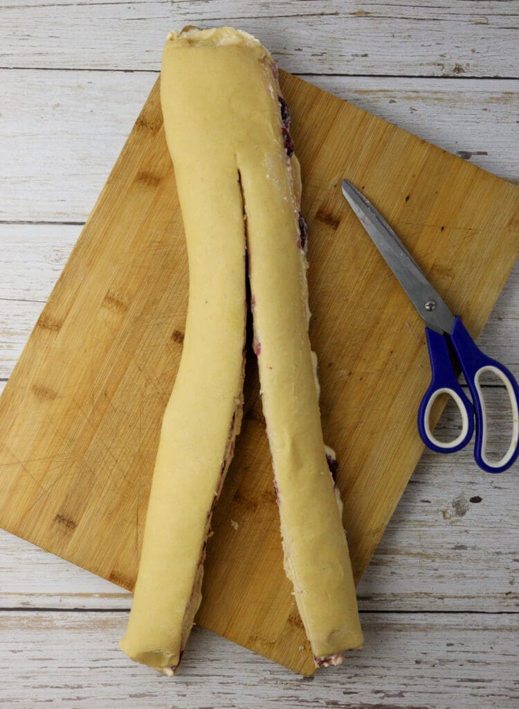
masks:
POLYGON ((519 156, 506 157, 517 130, 519 81, 306 79, 478 167, 519 182, 519 156))

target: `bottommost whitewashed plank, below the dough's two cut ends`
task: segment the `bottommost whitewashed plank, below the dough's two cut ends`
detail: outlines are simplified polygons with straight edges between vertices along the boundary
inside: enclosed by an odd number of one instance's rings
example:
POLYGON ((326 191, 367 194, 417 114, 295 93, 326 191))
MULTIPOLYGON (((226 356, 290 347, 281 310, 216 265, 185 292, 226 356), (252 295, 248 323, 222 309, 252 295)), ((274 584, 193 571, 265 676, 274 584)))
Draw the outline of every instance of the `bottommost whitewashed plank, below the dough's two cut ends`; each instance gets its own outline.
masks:
POLYGON ((515 709, 517 616, 362 614, 366 643, 301 679, 194 628, 182 671, 157 677, 117 647, 126 613, 1 613, 0 701, 37 709, 515 709))

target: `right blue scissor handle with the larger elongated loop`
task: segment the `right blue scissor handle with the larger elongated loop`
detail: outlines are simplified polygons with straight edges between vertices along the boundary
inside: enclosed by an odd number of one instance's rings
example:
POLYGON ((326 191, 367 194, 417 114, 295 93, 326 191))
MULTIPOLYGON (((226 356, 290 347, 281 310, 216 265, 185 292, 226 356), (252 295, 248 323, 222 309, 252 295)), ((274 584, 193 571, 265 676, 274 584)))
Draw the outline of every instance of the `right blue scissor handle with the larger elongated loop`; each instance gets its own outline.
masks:
POLYGON ((476 443, 474 445, 474 459, 479 467, 487 473, 501 473, 513 465, 519 455, 519 385, 513 374, 496 359, 487 357, 479 350, 474 340, 467 332, 459 318, 454 320, 454 328, 450 335, 452 345, 462 366, 463 374, 467 380, 469 391, 476 411, 476 443), (510 398, 512 406, 512 437, 508 451, 496 463, 486 457, 487 420, 485 402, 481 390, 480 378, 484 372, 496 374, 503 384, 510 398))

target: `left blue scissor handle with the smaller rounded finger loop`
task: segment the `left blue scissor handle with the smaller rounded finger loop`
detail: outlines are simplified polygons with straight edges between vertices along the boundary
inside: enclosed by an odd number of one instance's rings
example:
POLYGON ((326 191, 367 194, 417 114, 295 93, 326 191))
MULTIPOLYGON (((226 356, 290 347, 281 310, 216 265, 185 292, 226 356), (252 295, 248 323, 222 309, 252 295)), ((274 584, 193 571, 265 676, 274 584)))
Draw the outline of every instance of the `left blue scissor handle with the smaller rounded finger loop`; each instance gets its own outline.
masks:
POLYGON ((430 328, 425 328, 425 336, 429 350, 431 380, 418 408, 418 432, 425 445, 431 450, 437 453, 454 453, 464 448, 474 434, 474 407, 454 374, 447 337, 430 328), (432 403, 441 393, 447 393, 454 399, 462 415, 462 431, 457 438, 449 442, 437 440, 430 427, 432 403))

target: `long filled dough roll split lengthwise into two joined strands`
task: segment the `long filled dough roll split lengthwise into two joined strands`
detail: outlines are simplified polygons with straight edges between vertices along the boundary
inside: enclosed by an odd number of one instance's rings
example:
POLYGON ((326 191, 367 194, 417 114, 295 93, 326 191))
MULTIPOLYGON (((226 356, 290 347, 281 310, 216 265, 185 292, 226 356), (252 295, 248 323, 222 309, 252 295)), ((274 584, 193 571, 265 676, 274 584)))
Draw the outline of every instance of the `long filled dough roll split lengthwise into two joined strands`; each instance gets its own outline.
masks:
POLYGON ((169 35, 161 101, 189 254, 189 310, 121 641, 132 659, 164 674, 177 669, 201 601, 211 513, 240 428, 245 245, 286 574, 318 665, 338 664, 343 649, 362 644, 320 428, 301 178, 280 96, 277 67, 251 35, 169 35))

